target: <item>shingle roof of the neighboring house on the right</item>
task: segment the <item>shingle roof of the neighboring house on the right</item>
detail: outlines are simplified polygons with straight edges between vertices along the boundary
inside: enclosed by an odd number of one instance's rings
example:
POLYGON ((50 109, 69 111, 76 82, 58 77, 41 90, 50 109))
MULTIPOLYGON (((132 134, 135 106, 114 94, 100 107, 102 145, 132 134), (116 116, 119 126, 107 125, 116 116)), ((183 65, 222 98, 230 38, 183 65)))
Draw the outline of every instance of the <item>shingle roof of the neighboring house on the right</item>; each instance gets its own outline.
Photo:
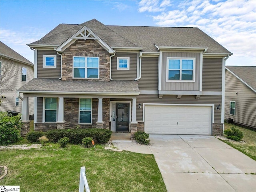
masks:
POLYGON ((256 66, 226 66, 226 68, 256 90, 256 66))

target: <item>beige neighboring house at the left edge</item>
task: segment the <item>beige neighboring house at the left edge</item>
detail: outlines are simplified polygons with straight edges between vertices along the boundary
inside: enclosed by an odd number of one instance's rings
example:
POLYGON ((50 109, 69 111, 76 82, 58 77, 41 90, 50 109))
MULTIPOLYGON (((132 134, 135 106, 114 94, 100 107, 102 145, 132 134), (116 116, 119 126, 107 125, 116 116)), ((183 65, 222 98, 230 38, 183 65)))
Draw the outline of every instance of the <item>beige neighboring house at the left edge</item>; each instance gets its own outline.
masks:
MULTIPOLYGON (((34 64, 0 42, 0 111, 22 112, 23 94, 16 90, 34 78, 34 64)), ((34 114, 34 98, 29 99, 29 116, 34 114)))

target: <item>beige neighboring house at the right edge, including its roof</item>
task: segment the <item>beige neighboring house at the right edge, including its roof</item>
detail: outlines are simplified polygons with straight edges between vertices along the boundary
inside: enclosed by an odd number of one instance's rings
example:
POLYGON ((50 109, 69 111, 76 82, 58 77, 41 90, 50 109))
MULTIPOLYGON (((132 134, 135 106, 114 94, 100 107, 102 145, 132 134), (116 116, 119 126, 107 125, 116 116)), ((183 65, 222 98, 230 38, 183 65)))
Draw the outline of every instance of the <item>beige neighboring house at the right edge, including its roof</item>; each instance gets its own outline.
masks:
POLYGON ((256 66, 226 66, 225 114, 256 128, 256 66))

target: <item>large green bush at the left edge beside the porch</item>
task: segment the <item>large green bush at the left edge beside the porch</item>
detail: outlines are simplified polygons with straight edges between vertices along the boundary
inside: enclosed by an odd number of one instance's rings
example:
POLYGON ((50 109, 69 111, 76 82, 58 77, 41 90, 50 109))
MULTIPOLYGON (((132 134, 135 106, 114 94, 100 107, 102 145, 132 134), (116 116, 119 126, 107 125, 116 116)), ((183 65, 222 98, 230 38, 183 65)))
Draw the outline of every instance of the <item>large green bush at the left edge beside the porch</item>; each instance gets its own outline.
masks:
POLYGON ((20 115, 0 112, 0 145, 12 144, 20 138, 20 115))

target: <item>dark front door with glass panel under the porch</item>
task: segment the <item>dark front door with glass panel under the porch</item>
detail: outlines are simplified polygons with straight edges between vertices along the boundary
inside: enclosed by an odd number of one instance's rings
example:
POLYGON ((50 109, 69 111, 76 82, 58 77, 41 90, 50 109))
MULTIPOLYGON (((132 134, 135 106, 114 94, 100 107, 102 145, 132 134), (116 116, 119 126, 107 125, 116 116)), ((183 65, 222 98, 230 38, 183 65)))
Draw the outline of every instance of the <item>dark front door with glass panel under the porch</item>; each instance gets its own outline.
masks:
POLYGON ((116 131, 129 131, 129 103, 116 103, 116 131))

